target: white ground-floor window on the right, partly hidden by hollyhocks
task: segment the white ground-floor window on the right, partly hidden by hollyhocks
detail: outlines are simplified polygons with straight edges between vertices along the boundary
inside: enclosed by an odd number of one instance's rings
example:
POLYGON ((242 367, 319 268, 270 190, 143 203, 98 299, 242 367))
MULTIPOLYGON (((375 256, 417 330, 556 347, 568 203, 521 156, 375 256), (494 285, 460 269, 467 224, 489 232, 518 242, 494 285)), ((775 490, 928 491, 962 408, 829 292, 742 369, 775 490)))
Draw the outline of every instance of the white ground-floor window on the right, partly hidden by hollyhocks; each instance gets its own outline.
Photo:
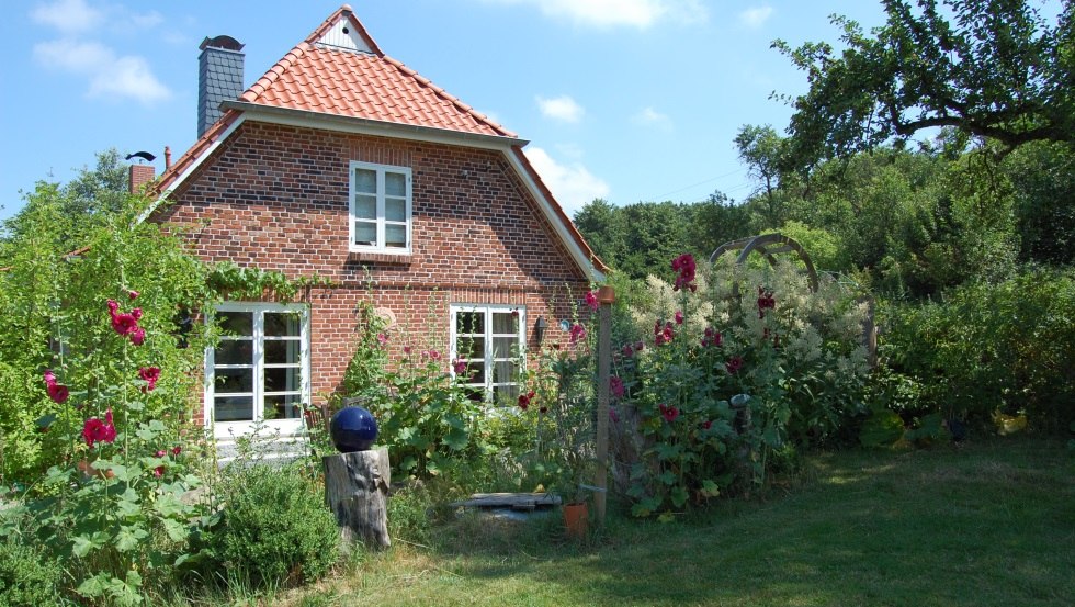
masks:
POLYGON ((475 398, 514 402, 527 349, 525 316, 520 306, 452 306, 452 360, 466 362, 475 398))

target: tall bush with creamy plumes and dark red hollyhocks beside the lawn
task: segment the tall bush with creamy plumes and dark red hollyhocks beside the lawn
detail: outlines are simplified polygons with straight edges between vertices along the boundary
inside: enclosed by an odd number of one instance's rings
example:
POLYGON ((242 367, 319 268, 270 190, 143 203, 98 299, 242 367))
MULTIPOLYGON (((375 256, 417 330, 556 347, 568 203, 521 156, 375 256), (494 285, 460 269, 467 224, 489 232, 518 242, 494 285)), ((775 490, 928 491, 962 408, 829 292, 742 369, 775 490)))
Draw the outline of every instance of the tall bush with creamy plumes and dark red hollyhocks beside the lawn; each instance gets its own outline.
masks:
POLYGON ((634 514, 667 515, 763 483, 774 457, 794 459, 789 446, 847 440, 848 421, 865 411, 865 311, 853 293, 829 277, 811 293, 790 263, 731 259, 699 279, 698 293, 648 284, 650 305, 633 312, 640 325, 656 322, 654 339, 641 350, 625 344, 616 358, 619 440, 641 446, 634 514))

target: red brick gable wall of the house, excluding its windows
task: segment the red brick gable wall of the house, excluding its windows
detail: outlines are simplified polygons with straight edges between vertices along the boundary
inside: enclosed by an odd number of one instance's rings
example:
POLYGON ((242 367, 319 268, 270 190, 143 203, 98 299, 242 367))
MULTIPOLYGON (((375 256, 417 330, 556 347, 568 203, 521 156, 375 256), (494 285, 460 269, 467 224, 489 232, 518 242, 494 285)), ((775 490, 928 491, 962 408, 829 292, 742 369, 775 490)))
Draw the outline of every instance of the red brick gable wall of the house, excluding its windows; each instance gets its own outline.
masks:
POLYGON ((545 316, 547 341, 587 278, 499 151, 244 123, 155 216, 184 226, 206 260, 319 274, 310 304, 314 401, 336 391, 353 352, 355 306, 396 317, 393 348, 446 349, 449 304, 498 303, 545 316), (348 252, 351 160, 412 172, 412 254, 348 252))

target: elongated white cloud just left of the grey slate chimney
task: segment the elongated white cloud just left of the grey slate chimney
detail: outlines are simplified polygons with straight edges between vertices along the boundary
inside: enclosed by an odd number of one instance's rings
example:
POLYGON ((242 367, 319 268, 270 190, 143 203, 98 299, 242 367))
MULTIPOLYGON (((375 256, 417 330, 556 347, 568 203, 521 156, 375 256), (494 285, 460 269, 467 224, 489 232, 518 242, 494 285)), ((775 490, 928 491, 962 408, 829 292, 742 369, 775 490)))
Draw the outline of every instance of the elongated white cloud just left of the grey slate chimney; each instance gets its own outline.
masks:
POLYGON ((45 67, 89 80, 90 97, 132 98, 142 103, 167 99, 171 91, 154 76, 142 57, 117 57, 97 42, 64 38, 34 45, 34 57, 45 67))

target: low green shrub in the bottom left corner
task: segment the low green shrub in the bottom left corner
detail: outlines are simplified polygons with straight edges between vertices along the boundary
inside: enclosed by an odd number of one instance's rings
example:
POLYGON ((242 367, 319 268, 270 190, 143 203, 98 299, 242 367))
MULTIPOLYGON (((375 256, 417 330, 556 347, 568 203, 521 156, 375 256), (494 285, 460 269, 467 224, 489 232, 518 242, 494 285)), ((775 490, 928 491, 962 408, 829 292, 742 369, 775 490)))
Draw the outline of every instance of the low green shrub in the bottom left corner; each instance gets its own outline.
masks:
POLYGON ((35 546, 0 540, 0 605, 55 605, 64 571, 35 546))

